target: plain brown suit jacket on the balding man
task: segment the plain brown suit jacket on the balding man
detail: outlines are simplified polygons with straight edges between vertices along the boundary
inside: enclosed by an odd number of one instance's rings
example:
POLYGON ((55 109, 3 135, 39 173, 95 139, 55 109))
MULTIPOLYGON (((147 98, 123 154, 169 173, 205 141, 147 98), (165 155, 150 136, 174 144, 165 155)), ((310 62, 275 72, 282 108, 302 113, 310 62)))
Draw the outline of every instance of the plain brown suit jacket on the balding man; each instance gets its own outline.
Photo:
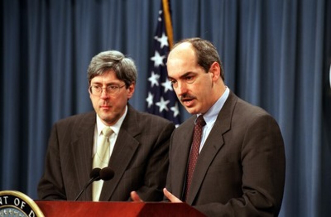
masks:
MULTIPOLYGON (((193 135, 191 117, 170 140, 167 189, 182 198, 193 135)), ((186 202, 208 216, 276 216, 285 154, 276 121, 230 92, 201 150, 186 202)))

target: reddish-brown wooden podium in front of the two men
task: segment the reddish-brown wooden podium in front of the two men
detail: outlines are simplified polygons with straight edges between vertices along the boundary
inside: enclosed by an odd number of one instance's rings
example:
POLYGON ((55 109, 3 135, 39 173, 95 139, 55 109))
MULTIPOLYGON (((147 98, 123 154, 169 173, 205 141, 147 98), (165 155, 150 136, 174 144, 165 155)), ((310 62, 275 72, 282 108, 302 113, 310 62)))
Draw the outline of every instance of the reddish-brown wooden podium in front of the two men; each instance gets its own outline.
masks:
POLYGON ((167 202, 89 202, 35 200, 48 216, 204 216, 186 203, 167 202))

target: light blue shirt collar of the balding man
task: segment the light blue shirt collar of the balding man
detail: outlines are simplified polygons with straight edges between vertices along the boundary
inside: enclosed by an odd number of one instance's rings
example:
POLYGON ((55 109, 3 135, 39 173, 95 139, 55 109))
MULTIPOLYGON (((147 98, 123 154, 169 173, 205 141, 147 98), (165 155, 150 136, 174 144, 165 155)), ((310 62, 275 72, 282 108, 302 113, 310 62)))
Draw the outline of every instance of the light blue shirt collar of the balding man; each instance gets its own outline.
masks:
MULTIPOLYGON (((221 111, 227 97, 229 96, 230 89, 228 87, 225 87, 225 91, 222 94, 222 96, 213 104, 213 106, 204 114, 204 119, 206 122, 206 125, 209 127, 213 125, 216 121, 218 113, 221 111)), ((197 118, 202 115, 198 114, 197 118)), ((197 120, 197 119, 195 119, 197 120)), ((194 122, 195 123, 195 122, 194 122)))

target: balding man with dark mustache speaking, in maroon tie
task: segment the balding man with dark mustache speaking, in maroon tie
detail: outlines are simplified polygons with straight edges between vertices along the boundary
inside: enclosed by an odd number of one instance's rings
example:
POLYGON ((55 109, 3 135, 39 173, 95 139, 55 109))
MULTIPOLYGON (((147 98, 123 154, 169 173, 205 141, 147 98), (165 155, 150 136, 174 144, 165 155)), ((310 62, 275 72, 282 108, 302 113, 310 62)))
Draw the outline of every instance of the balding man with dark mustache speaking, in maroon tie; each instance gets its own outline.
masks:
MULTIPOLYGON (((277 216, 285 154, 276 121, 224 84, 219 55, 207 40, 175 44, 167 70, 193 116, 171 136, 166 198, 207 216, 277 216)), ((141 201, 138 194, 131 192, 134 201, 141 201)))

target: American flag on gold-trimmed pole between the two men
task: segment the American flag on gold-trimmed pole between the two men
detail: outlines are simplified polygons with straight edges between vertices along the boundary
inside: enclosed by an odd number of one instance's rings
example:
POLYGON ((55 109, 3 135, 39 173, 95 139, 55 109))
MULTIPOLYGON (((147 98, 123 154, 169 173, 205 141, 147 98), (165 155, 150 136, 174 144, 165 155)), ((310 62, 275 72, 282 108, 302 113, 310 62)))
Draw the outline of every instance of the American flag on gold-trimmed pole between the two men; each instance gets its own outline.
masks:
POLYGON ((149 61, 147 112, 180 124, 179 102, 167 78, 166 57, 172 47, 172 25, 169 0, 162 0, 149 61))

